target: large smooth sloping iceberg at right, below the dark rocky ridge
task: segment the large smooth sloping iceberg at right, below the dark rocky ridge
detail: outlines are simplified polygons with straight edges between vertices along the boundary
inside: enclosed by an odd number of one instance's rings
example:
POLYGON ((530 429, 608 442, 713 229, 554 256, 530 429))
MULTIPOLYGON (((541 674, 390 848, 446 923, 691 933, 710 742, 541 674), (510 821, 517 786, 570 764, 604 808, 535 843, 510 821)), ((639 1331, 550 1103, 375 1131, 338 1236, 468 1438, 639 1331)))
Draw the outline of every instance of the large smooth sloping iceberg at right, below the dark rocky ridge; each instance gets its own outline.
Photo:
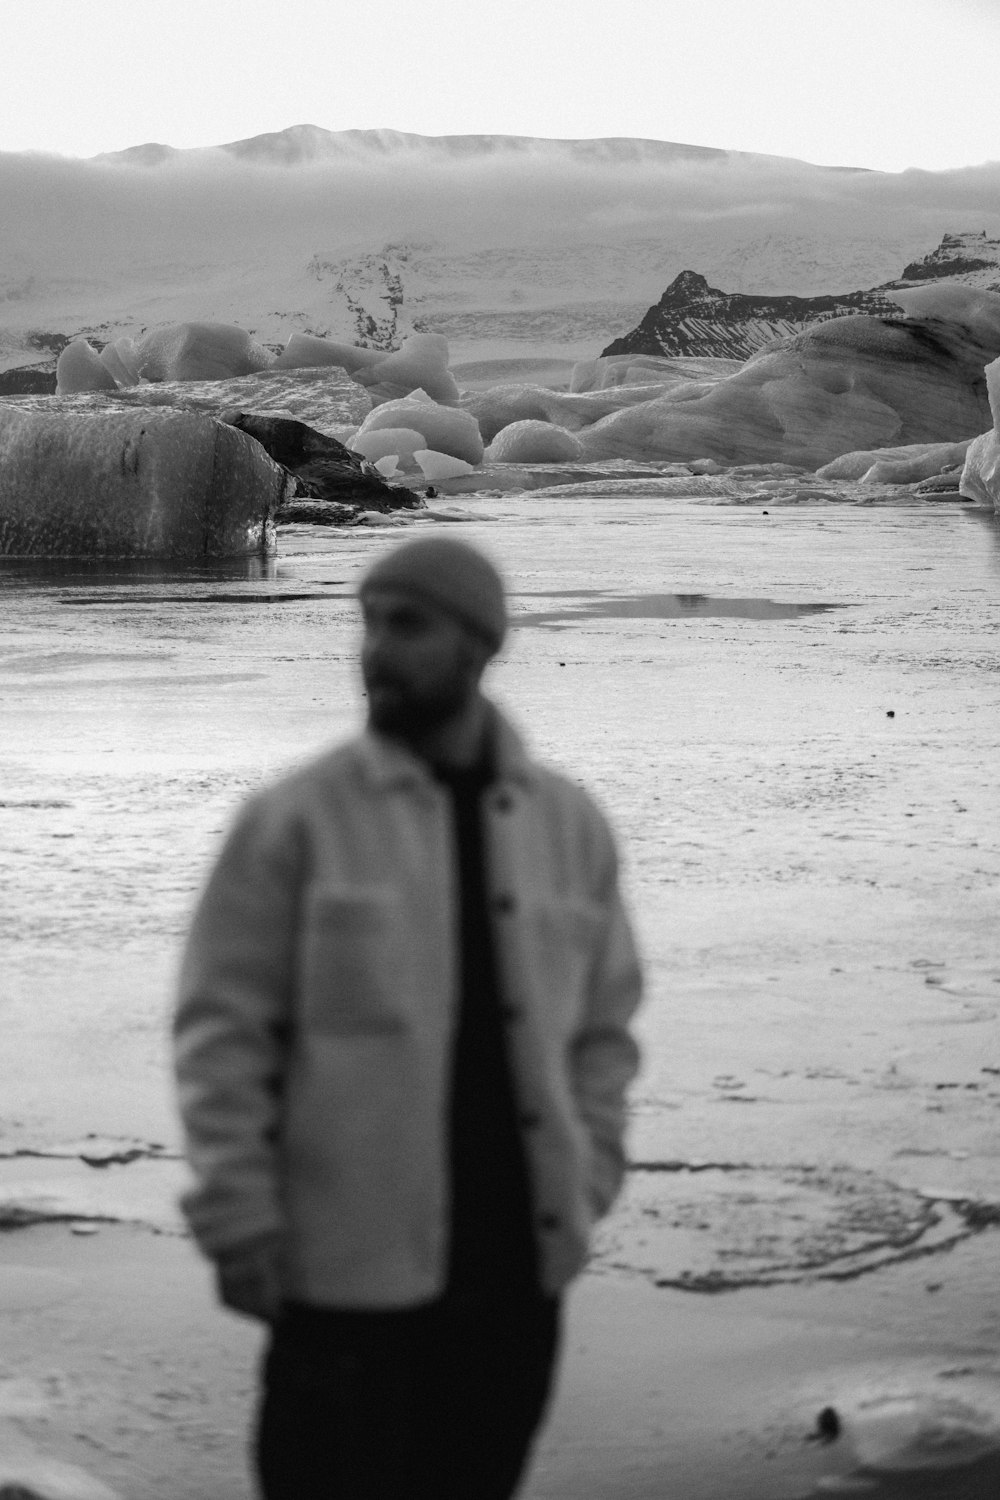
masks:
POLYGON ((816 324, 717 386, 678 386, 604 417, 580 434, 583 453, 819 468, 856 448, 972 438, 990 420, 982 368, 1000 352, 1000 296, 960 302, 961 320, 816 324))

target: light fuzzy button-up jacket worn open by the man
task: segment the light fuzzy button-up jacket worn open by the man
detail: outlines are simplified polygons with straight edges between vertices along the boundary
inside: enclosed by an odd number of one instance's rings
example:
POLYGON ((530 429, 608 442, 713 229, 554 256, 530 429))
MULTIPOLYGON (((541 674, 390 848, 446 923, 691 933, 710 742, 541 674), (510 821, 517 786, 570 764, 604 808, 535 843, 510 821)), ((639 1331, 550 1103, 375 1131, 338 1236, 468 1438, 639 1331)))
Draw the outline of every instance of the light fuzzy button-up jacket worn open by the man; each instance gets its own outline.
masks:
MULTIPOLYGON (((640 974, 603 814, 493 724, 486 880, 556 1293, 621 1185, 640 974)), ((448 795, 397 742, 366 732, 243 808, 175 1017, 184 1209, 208 1256, 276 1234, 285 1293, 319 1305, 442 1292, 457 916, 448 795)))

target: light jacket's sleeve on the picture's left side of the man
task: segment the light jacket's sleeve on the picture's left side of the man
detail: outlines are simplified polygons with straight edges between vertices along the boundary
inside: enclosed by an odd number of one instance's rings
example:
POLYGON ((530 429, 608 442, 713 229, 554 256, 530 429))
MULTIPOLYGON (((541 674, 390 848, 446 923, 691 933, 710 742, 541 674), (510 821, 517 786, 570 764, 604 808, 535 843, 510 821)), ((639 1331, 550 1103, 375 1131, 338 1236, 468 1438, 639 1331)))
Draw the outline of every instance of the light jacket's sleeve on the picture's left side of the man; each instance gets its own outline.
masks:
POLYGON ((282 1230, 276 1150, 298 866, 294 830, 265 801, 249 804, 184 951, 174 1059, 195 1185, 181 1204, 207 1256, 282 1230))

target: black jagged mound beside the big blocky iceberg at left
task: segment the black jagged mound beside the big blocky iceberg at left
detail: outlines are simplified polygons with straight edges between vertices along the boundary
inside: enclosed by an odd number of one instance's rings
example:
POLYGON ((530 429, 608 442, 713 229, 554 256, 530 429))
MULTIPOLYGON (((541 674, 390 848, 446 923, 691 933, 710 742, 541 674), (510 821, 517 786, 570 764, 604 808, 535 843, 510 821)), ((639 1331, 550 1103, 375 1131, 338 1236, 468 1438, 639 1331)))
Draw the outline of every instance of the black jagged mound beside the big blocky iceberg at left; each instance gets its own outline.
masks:
POLYGON ((336 438, 291 417, 232 411, 222 418, 255 438, 294 478, 276 520, 343 525, 364 510, 415 510, 420 495, 387 484, 382 476, 336 438))

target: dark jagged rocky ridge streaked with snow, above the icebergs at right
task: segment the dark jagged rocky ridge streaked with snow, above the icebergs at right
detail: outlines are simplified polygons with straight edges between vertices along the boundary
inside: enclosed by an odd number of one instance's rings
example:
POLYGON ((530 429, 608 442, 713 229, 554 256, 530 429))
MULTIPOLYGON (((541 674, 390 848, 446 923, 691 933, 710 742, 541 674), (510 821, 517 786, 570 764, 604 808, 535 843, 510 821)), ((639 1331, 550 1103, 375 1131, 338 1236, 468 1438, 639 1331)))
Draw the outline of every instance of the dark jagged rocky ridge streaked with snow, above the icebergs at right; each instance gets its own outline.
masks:
POLYGON ((709 286, 697 272, 681 272, 639 324, 603 352, 745 360, 765 344, 799 333, 811 322, 859 312, 900 316, 894 292, 931 284, 1000 291, 1000 240, 991 240, 985 231, 946 234, 937 249, 907 266, 898 280, 829 297, 724 292, 709 286))

